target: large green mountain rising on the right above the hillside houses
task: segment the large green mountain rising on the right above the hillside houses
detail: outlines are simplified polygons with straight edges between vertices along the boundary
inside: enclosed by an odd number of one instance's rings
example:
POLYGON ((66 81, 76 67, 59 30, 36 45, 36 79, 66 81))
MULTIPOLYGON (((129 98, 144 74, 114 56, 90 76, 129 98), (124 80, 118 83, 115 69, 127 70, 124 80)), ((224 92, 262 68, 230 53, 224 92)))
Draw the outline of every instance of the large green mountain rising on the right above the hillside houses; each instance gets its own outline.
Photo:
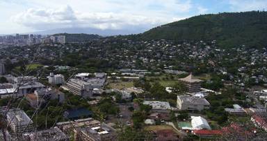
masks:
MULTIPOLYGON (((267 12, 224 12, 200 15, 152 28, 139 39, 213 40, 221 47, 267 46, 267 12)), ((136 38, 136 37, 135 37, 136 38)))

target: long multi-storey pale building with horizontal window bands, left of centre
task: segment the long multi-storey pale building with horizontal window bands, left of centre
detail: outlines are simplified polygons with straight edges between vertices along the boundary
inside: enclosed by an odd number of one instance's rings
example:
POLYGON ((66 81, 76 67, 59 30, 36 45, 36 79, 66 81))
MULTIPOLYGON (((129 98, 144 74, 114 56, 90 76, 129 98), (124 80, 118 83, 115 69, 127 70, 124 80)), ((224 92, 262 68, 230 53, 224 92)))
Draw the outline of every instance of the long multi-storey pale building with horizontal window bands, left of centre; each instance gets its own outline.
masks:
POLYGON ((92 86, 90 83, 81 79, 70 79, 67 82, 67 88, 74 95, 81 95, 82 97, 92 97, 92 86))

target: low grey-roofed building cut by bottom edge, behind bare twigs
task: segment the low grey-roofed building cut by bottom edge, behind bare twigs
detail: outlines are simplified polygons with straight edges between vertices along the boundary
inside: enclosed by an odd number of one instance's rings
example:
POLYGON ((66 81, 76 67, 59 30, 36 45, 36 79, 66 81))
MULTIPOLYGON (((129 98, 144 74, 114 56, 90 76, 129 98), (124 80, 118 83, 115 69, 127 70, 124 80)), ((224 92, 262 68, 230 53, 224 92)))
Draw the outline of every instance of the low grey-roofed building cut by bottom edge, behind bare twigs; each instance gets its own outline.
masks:
POLYGON ((60 131, 58 127, 52 127, 51 129, 24 133, 24 140, 26 141, 68 141, 69 137, 60 131))

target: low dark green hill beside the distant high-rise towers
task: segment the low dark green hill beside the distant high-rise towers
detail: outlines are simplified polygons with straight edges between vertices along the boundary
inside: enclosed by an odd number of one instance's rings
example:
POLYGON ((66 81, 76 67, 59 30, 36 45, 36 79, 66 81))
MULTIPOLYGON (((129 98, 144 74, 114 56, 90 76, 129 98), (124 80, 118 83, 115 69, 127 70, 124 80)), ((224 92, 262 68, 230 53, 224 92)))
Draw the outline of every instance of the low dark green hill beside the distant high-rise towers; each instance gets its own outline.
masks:
POLYGON ((83 42, 83 41, 91 41, 94 39, 102 38, 102 36, 99 35, 87 35, 87 34, 60 33, 56 35, 64 35, 66 37, 66 42, 83 42))

